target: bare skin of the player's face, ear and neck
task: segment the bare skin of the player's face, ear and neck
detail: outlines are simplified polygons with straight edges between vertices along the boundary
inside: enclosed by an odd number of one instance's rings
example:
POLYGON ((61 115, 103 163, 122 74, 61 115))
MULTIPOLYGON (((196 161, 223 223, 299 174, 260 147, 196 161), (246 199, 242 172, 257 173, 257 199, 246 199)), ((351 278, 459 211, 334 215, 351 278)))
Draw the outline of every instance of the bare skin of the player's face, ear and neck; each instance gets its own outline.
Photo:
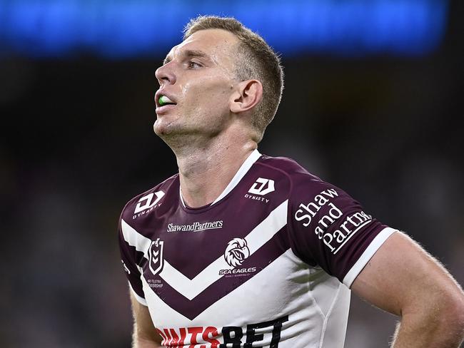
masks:
POLYGON ((183 199, 190 207, 213 202, 257 148, 251 113, 262 98, 261 82, 233 73, 238 39, 228 31, 197 31, 171 49, 156 71, 155 133, 176 154, 183 199))

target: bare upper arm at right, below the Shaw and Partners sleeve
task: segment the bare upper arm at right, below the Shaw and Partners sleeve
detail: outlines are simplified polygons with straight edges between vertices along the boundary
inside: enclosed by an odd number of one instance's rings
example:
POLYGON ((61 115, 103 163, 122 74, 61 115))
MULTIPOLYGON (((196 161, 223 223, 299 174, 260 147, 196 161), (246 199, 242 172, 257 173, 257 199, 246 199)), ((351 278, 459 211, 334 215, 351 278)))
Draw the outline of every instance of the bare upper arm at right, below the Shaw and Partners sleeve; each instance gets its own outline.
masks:
POLYGON ((420 310, 434 315, 443 309, 463 308, 463 292, 453 277, 400 232, 385 240, 351 289, 376 307, 400 316, 420 310))

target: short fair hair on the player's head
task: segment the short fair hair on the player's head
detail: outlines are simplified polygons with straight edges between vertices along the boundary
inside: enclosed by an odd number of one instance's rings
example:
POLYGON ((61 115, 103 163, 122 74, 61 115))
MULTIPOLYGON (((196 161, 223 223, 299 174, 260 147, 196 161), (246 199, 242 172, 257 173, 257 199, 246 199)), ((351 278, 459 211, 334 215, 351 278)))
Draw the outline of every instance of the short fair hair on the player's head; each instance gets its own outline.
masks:
POLYGON ((241 81, 256 79, 263 85, 263 100, 253 114, 253 128, 257 142, 276 116, 283 91, 281 59, 266 41, 241 22, 231 17, 198 16, 191 19, 183 31, 183 39, 206 29, 223 29, 234 34, 240 44, 237 47, 236 75, 241 81))

